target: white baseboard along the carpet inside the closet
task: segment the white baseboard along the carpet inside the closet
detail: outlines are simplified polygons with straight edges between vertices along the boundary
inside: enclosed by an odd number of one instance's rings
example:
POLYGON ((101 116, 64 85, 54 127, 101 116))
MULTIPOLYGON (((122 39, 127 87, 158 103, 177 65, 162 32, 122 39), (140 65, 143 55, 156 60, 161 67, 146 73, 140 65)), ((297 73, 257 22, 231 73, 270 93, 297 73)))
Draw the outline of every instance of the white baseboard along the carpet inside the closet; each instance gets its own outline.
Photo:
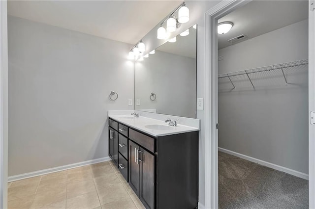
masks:
POLYGON ((246 156, 246 155, 243 155, 243 154, 239 154, 239 153, 236 153, 236 152, 233 152, 233 151, 230 151, 230 150, 226 150, 226 149, 223 149, 223 148, 220 148, 220 147, 218 149, 219 149, 219 151, 221 151, 223 153, 227 153, 227 154, 230 154, 232 156, 240 157, 240 158, 249 160, 251 162, 256 162, 256 163, 258 163, 260 165, 263 165, 263 166, 266 166, 266 167, 269 167, 269 168, 272 168, 272 169, 275 169, 275 170, 278 170, 278 171, 282 171, 284 173, 291 174, 293 176, 296 176, 296 177, 299 177, 299 178, 302 178, 302 179, 309 180, 309 175, 308 174, 305 174, 305 173, 302 173, 302 172, 299 172, 299 171, 295 171, 295 170, 292 170, 290 168, 285 168, 283 166, 276 165, 276 164, 273 164, 273 163, 270 163, 270 162, 266 162, 266 161, 263 161, 263 160, 260 160, 260 159, 256 159, 254 157, 249 157, 249 156, 246 156))

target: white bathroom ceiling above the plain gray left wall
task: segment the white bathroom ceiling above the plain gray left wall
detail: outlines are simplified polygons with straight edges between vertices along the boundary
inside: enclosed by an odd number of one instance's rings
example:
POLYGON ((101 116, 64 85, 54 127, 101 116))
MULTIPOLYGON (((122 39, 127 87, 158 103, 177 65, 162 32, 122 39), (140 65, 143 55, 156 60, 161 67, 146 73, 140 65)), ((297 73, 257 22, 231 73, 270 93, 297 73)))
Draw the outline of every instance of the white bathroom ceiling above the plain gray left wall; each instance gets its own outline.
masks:
POLYGON ((9 0, 8 14, 135 44, 182 0, 9 0))

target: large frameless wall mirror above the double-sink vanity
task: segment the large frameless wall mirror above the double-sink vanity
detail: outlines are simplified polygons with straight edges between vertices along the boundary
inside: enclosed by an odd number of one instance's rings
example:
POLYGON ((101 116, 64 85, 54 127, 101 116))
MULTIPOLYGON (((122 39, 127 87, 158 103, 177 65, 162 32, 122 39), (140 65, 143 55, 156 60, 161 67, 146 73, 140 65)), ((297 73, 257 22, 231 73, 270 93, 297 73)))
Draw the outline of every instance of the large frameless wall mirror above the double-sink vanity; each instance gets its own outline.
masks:
POLYGON ((188 30, 135 62, 135 109, 196 118, 197 31, 188 30))

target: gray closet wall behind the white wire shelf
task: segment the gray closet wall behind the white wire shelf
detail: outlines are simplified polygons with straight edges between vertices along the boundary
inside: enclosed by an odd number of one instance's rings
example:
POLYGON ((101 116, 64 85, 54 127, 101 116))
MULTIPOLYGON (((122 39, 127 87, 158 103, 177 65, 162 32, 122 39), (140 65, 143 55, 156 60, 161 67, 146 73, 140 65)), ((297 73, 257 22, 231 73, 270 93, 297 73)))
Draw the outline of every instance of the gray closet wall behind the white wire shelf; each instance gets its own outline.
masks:
MULTIPOLYGON (((219 50, 219 74, 308 58, 308 20, 219 50)), ((308 173, 307 65, 219 79, 219 147, 308 173)))

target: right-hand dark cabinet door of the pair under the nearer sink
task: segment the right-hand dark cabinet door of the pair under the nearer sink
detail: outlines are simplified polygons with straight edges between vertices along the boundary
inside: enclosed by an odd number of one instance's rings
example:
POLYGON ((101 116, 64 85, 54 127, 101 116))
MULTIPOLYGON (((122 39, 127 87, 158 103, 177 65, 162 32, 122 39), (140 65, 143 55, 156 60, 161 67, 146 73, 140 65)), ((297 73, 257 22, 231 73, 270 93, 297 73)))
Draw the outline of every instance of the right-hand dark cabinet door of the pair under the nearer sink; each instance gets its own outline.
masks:
POLYGON ((143 149, 141 149, 140 152, 141 165, 139 198, 147 209, 153 209, 155 196, 155 157, 143 149))

